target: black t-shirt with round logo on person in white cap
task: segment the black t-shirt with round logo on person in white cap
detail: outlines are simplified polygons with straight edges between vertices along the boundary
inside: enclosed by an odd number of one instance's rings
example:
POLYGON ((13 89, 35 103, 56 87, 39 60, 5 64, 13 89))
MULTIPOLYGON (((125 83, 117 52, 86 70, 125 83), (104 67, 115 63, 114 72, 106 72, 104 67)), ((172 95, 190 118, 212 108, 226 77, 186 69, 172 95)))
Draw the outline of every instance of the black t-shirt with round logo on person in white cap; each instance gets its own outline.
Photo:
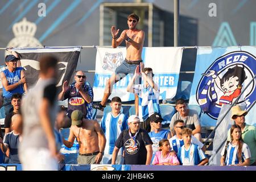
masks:
MULTIPOLYGON (((129 130, 129 129, 128 129, 129 130)), ((130 138, 129 131, 124 130, 119 135, 115 146, 118 148, 124 147, 125 163, 124 164, 146 164, 148 144, 152 144, 152 140, 146 130, 139 129, 136 137, 137 147, 134 147, 133 140, 130 138), (143 134, 142 134, 143 133, 143 134)))

